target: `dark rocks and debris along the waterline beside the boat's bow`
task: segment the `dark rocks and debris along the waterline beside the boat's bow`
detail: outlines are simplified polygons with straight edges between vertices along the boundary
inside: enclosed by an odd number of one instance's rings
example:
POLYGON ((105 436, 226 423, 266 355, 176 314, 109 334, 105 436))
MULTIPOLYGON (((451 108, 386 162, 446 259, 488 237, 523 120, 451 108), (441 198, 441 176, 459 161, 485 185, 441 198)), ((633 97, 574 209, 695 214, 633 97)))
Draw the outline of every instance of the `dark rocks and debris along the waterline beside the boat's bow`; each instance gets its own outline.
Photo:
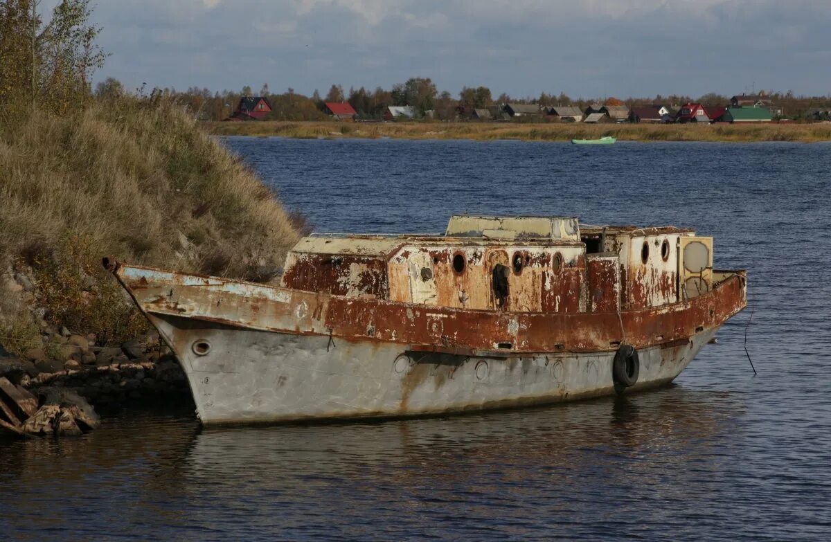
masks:
MULTIPOLYGON (((33 289, 24 273, 14 283, 14 293, 33 289)), ((98 346, 95 333, 56 328, 37 308, 31 315, 39 346, 12 356, 0 338, 0 434, 79 435, 98 426, 93 406, 189 397, 184 372, 158 333, 98 346)))

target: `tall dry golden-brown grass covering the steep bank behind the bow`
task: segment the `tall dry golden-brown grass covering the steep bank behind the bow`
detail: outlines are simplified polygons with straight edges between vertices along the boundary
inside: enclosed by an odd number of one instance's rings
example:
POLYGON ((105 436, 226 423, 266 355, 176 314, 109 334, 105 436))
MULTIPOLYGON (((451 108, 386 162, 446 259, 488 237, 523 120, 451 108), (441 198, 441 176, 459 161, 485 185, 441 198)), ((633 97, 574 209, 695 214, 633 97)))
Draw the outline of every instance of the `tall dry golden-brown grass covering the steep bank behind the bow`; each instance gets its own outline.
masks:
POLYGON ((102 256, 268 280, 298 238, 273 191, 169 101, 3 124, 0 202, 0 273, 32 274, 47 322, 110 339, 135 313, 107 289, 102 256))

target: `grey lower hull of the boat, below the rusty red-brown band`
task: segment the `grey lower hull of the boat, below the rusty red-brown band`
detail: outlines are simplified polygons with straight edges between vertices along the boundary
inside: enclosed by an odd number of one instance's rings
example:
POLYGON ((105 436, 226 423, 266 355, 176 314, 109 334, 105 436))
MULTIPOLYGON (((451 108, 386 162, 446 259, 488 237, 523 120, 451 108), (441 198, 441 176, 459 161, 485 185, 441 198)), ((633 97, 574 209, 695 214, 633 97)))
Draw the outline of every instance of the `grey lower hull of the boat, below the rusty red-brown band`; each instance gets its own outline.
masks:
MULTIPOLYGON (((420 416, 623 392, 613 350, 477 356, 149 316, 169 344, 209 345, 176 352, 206 425, 420 416)), ((716 330, 639 349, 640 374, 625 392, 671 382, 716 330)))

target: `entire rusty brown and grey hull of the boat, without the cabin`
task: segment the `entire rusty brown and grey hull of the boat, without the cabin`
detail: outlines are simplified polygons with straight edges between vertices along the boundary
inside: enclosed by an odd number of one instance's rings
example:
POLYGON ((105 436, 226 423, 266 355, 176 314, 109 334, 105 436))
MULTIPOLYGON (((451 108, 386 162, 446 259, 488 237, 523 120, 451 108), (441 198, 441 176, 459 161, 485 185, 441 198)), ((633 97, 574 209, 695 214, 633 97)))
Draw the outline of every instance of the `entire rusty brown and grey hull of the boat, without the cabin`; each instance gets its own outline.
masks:
POLYGON ((612 358, 637 347, 627 392, 671 382, 745 307, 743 272, 697 298, 598 313, 509 313, 349 298, 114 265, 174 349, 205 424, 411 416, 621 392, 612 358))

